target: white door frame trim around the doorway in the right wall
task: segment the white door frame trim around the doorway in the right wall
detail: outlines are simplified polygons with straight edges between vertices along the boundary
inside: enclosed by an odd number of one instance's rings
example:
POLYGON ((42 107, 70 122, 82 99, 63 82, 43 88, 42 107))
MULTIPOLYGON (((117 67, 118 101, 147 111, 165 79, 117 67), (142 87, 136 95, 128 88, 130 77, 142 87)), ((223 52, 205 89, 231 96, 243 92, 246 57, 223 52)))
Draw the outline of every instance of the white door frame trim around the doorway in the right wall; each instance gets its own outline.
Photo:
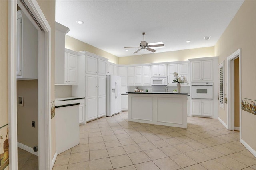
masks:
POLYGON ((234 59, 239 58, 239 133, 241 142, 241 48, 235 51, 232 55, 227 58, 227 96, 228 96, 228 107, 227 107, 227 125, 228 130, 235 130, 235 113, 234 113, 234 59))

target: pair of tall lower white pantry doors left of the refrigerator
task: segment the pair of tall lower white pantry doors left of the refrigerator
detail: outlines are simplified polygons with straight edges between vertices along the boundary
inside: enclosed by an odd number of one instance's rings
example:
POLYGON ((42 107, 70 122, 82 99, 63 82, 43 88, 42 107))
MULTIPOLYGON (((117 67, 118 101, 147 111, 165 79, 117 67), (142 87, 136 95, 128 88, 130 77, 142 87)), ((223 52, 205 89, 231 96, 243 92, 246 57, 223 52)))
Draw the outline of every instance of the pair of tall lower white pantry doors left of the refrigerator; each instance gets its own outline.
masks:
POLYGON ((86 74, 86 122, 106 116, 106 76, 86 74))

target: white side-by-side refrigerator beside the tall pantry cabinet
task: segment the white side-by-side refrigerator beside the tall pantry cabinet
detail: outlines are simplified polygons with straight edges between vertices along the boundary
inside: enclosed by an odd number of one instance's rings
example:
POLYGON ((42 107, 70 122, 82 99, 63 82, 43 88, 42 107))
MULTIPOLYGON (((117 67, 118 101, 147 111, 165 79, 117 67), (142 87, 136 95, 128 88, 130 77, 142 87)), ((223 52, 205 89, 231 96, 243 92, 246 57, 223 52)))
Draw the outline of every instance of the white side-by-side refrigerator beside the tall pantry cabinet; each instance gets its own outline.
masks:
POLYGON ((121 112, 121 77, 107 76, 107 116, 121 112))

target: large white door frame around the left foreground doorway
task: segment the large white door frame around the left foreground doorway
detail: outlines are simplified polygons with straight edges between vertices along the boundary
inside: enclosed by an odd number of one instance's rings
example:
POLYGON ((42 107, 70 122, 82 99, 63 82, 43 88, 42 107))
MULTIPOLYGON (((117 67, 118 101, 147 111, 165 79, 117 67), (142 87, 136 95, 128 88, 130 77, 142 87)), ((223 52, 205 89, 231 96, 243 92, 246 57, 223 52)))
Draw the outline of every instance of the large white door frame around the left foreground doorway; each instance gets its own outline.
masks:
MULTIPOLYGON (((51 27, 38 3, 23 1, 35 20, 42 27, 38 31, 38 166, 51 169, 51 27)), ((16 82, 16 27, 17 4, 21 1, 8 1, 8 123, 9 123, 9 168, 18 169, 17 152, 17 82, 16 82)))

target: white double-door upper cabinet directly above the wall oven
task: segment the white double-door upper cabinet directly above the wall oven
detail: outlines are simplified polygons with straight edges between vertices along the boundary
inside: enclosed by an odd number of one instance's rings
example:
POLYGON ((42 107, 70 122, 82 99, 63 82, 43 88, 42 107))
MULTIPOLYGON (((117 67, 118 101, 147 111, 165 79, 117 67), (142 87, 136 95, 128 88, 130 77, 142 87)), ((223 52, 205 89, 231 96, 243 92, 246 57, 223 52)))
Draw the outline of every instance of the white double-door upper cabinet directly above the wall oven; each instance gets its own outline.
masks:
POLYGON ((191 82, 213 81, 213 61, 191 61, 191 82))

